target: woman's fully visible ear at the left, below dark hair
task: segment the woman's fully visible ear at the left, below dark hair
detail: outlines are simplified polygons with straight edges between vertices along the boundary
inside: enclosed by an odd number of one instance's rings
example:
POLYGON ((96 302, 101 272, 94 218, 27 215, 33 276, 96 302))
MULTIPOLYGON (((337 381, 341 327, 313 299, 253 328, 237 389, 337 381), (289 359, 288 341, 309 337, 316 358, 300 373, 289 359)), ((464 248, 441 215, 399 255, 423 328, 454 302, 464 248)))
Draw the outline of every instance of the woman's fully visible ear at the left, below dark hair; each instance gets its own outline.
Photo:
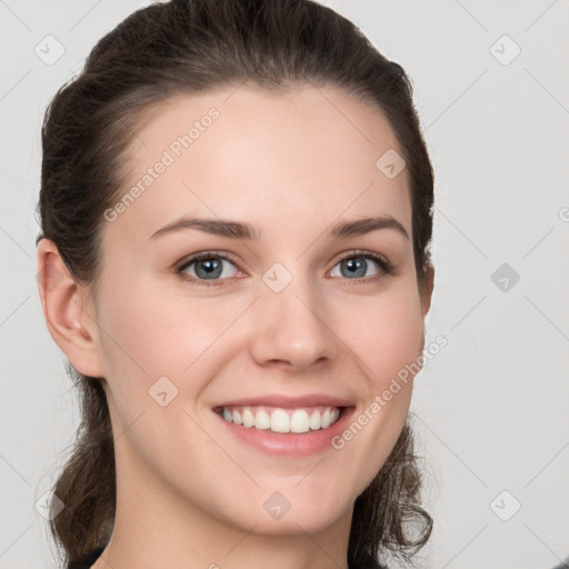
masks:
POLYGON ((38 243, 38 289, 49 332, 73 368, 104 377, 98 351, 94 307, 84 284, 77 283, 49 239, 38 243))

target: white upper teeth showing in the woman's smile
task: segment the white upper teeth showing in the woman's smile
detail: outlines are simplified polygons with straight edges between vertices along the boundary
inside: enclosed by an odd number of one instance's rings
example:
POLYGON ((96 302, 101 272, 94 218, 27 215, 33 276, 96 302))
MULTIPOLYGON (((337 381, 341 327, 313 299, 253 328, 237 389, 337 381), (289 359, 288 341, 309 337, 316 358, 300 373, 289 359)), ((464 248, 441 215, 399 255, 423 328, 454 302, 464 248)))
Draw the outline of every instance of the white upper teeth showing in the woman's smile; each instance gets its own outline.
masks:
POLYGON ((272 432, 308 432, 327 429, 340 417, 337 407, 311 409, 279 409, 262 407, 242 407, 232 410, 224 407, 222 417, 228 422, 247 428, 271 430, 272 432), (266 410, 267 409, 267 410, 266 410))

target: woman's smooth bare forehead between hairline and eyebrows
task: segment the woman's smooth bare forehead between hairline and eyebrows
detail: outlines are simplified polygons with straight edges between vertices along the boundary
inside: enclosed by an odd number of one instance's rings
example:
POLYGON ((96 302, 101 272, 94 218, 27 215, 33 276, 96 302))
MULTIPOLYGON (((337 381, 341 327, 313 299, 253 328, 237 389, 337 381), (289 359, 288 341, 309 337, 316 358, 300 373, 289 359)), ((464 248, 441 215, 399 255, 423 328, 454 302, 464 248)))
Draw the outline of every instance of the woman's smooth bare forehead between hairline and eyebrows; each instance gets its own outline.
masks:
POLYGON ((150 234, 191 212, 261 227, 388 213, 410 234, 407 169, 389 178, 380 168, 381 157, 402 154, 393 130, 378 108, 335 88, 177 96, 141 119, 118 197, 136 194, 117 223, 130 231, 150 234))

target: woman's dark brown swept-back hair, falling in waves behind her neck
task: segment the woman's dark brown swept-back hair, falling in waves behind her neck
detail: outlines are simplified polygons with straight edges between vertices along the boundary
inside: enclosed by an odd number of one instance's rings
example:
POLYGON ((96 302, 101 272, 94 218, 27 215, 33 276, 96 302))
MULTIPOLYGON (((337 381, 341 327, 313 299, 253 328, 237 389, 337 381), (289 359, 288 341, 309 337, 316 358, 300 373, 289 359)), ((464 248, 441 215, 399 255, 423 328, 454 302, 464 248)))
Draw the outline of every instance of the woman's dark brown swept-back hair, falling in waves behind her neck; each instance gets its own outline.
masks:
MULTIPOLYGON (((172 0, 131 13, 100 39, 46 110, 37 242, 52 240, 70 274, 94 287, 103 212, 123 191, 133 129, 173 97, 241 83, 272 92, 332 86, 383 113, 410 174, 422 293, 431 264, 433 173, 410 79, 352 22, 312 0, 172 0)), ((116 463, 101 378, 66 366, 81 398, 81 422, 53 487, 64 508, 49 529, 64 562, 74 562, 111 537, 116 463)), ((350 566, 385 553, 408 565, 428 541, 432 518, 420 506, 418 458, 408 417, 355 501, 350 566), (415 538, 408 525, 418 528, 415 538)))

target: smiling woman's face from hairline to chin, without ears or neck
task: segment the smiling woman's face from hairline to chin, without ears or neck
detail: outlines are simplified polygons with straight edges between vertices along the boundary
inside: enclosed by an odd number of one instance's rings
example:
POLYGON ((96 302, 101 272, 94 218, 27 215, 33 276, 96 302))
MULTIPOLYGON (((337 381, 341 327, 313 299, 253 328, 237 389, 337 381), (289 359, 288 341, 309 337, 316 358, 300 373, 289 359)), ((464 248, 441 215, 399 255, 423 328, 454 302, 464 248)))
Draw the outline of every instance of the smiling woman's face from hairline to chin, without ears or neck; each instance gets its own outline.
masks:
POLYGON ((320 91, 179 97, 137 131, 94 307, 119 492, 315 532, 391 451, 412 377, 378 398, 423 341, 409 176, 376 166, 402 154, 377 109, 320 91))

